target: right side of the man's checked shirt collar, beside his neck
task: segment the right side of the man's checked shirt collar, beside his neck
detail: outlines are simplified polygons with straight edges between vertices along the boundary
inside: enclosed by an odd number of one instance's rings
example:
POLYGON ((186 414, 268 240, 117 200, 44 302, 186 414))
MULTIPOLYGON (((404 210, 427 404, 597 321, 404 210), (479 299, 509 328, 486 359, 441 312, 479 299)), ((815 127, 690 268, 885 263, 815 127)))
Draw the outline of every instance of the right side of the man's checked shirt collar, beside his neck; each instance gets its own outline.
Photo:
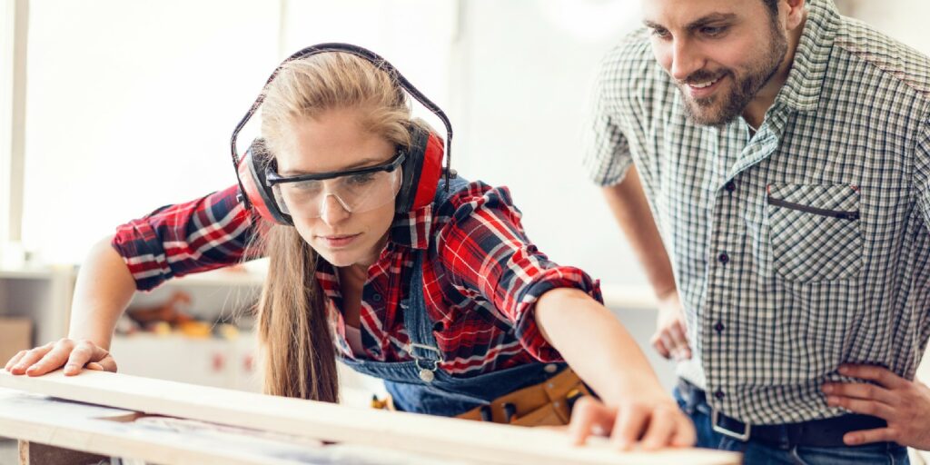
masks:
POLYGON ((808 2, 804 32, 794 53, 788 80, 776 100, 800 112, 817 110, 839 27, 840 13, 831 0, 808 2))

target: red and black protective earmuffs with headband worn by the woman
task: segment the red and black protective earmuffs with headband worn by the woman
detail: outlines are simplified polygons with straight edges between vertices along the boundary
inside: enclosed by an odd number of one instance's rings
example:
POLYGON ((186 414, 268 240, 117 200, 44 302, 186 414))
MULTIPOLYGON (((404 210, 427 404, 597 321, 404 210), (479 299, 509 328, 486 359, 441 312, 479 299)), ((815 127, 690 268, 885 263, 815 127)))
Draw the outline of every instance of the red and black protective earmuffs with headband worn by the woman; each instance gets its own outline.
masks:
POLYGON ((414 100, 419 101, 431 113, 435 114, 445 126, 445 151, 443 141, 435 134, 420 128, 417 125, 411 126, 410 149, 406 153, 404 164, 402 165, 403 178, 401 179, 401 189, 397 193, 395 208, 397 212, 407 212, 421 206, 429 205, 436 193, 436 185, 441 176, 445 176, 445 190, 449 189, 449 178, 455 177, 455 174, 449 168, 452 161, 452 124, 445 116, 445 112, 438 105, 424 96, 417 87, 410 84, 403 74, 397 71, 388 60, 384 60, 375 52, 365 49, 361 46, 350 44, 318 44, 308 46, 299 50, 297 53, 288 57, 274 70, 274 73, 265 82, 261 88, 258 99, 252 103, 248 113, 239 121, 233 130, 233 137, 230 140, 230 151, 233 155, 233 167, 236 170, 236 179, 239 183, 239 197, 241 202, 245 202, 246 208, 255 208, 263 219, 267 219, 277 224, 292 225, 293 219, 286 213, 282 212, 274 200, 272 188, 268 186, 265 179, 265 162, 269 160, 272 153, 269 153, 265 141, 261 138, 253 140, 249 145, 246 154, 240 157, 236 153, 236 140, 239 131, 246 126, 246 123, 252 118, 252 115, 258 112, 261 102, 265 100, 265 93, 268 86, 280 73, 281 68, 292 60, 300 60, 311 57, 318 53, 341 52, 349 53, 361 59, 371 62, 379 70, 388 73, 392 81, 404 89, 414 100), (445 166, 443 166, 443 153, 445 152, 445 166))

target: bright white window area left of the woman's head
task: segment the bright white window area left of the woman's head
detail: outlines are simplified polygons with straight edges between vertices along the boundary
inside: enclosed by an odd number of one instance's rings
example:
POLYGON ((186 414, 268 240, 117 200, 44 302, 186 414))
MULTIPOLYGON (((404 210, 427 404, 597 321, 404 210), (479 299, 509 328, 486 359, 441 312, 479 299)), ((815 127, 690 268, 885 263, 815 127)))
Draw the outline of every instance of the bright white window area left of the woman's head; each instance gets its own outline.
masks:
POLYGON ((278 20, 264 0, 33 1, 25 245, 80 261, 116 224, 231 185, 278 20))

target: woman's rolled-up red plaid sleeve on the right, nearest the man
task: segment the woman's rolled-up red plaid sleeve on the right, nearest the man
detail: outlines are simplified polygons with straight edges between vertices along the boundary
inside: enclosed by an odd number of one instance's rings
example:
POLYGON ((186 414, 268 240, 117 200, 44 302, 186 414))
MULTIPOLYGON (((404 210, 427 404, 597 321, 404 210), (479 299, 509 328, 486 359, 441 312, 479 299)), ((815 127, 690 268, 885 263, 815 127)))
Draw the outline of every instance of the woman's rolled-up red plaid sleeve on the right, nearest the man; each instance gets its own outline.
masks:
POLYGON ((449 281, 462 293, 477 292, 490 302, 494 309, 489 311, 497 313, 489 316, 509 322, 533 357, 561 361, 539 331, 536 302, 557 287, 577 288, 603 302, 599 283, 578 268, 557 265, 530 243, 506 188, 474 182, 443 209, 450 218, 439 233, 437 254, 449 281))

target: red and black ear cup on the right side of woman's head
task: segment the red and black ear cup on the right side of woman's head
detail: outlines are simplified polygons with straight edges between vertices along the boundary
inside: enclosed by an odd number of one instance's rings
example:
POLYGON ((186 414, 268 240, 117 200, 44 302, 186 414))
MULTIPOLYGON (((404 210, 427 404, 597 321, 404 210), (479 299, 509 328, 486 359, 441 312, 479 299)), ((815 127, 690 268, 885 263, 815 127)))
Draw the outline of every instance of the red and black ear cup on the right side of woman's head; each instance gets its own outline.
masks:
POLYGON ((410 139, 395 203, 397 213, 430 205, 443 175, 443 140, 418 125, 410 131, 410 139))

